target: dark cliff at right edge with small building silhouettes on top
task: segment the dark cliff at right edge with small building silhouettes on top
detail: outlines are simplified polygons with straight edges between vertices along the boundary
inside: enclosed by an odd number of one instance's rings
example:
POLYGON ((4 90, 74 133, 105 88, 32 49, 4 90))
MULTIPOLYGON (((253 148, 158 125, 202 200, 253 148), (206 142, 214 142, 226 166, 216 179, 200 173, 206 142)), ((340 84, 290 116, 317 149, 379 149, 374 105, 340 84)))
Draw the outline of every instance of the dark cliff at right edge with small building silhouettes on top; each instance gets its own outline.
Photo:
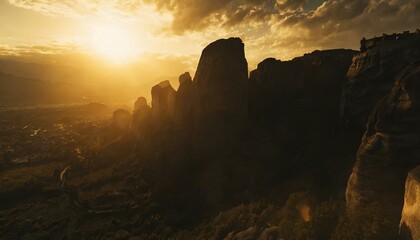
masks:
POLYGON ((361 52, 347 73, 341 116, 363 133, 369 113, 393 87, 397 74, 420 58, 420 32, 362 39, 361 52))

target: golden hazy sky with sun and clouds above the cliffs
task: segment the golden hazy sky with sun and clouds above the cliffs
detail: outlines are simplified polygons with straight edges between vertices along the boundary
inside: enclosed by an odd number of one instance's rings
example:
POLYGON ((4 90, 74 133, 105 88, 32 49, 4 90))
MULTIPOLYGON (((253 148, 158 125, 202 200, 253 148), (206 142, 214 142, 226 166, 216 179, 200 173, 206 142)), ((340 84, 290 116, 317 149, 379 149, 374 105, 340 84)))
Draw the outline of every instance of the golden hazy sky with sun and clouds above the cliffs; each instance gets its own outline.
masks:
POLYGON ((420 0, 0 0, 0 55, 150 60, 161 75, 195 70, 219 38, 241 37, 252 70, 266 57, 357 49, 363 36, 416 28, 420 0))

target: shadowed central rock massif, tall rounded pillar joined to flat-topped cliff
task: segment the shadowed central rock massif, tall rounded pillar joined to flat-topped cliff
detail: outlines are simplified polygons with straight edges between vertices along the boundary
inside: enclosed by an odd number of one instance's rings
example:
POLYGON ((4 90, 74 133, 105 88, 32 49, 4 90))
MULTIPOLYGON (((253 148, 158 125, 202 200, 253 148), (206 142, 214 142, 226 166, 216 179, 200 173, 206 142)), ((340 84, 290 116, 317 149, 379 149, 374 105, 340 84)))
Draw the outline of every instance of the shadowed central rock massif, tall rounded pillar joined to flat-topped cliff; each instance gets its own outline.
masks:
POLYGON ((321 153, 332 148, 326 139, 334 141, 329 136, 338 124, 342 85, 355 53, 267 59, 249 80, 240 39, 210 43, 194 81, 184 73, 178 91, 165 82, 152 89, 152 130, 137 148, 138 156, 147 156, 145 172, 158 179, 162 198, 194 183, 173 193, 173 203, 194 196, 198 206, 215 209, 265 191, 297 168, 306 171, 302 159, 321 165, 330 155, 321 153), (168 121, 162 121, 165 116, 168 121), (302 153, 303 146, 310 150, 302 153))

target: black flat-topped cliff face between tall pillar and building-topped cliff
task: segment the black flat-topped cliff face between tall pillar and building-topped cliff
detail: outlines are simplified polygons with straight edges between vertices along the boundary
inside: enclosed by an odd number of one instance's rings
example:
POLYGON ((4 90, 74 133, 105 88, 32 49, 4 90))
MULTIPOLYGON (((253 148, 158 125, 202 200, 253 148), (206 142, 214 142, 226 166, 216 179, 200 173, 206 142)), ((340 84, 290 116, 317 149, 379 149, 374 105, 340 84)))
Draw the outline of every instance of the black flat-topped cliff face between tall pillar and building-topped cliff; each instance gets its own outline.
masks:
POLYGON ((331 139, 338 128, 342 85, 355 53, 338 49, 284 62, 265 59, 249 79, 251 120, 292 148, 331 139))

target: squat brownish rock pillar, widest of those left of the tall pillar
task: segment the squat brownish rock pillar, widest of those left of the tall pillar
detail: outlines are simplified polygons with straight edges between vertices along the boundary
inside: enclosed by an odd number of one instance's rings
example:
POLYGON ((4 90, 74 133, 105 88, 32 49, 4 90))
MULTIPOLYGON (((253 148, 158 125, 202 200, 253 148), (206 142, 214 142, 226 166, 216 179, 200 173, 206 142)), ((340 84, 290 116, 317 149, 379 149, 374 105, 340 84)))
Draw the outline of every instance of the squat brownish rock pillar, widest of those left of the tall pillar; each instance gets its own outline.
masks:
POLYGON ((175 90, 169 80, 152 88, 152 116, 155 120, 172 118, 175 109, 175 90))

